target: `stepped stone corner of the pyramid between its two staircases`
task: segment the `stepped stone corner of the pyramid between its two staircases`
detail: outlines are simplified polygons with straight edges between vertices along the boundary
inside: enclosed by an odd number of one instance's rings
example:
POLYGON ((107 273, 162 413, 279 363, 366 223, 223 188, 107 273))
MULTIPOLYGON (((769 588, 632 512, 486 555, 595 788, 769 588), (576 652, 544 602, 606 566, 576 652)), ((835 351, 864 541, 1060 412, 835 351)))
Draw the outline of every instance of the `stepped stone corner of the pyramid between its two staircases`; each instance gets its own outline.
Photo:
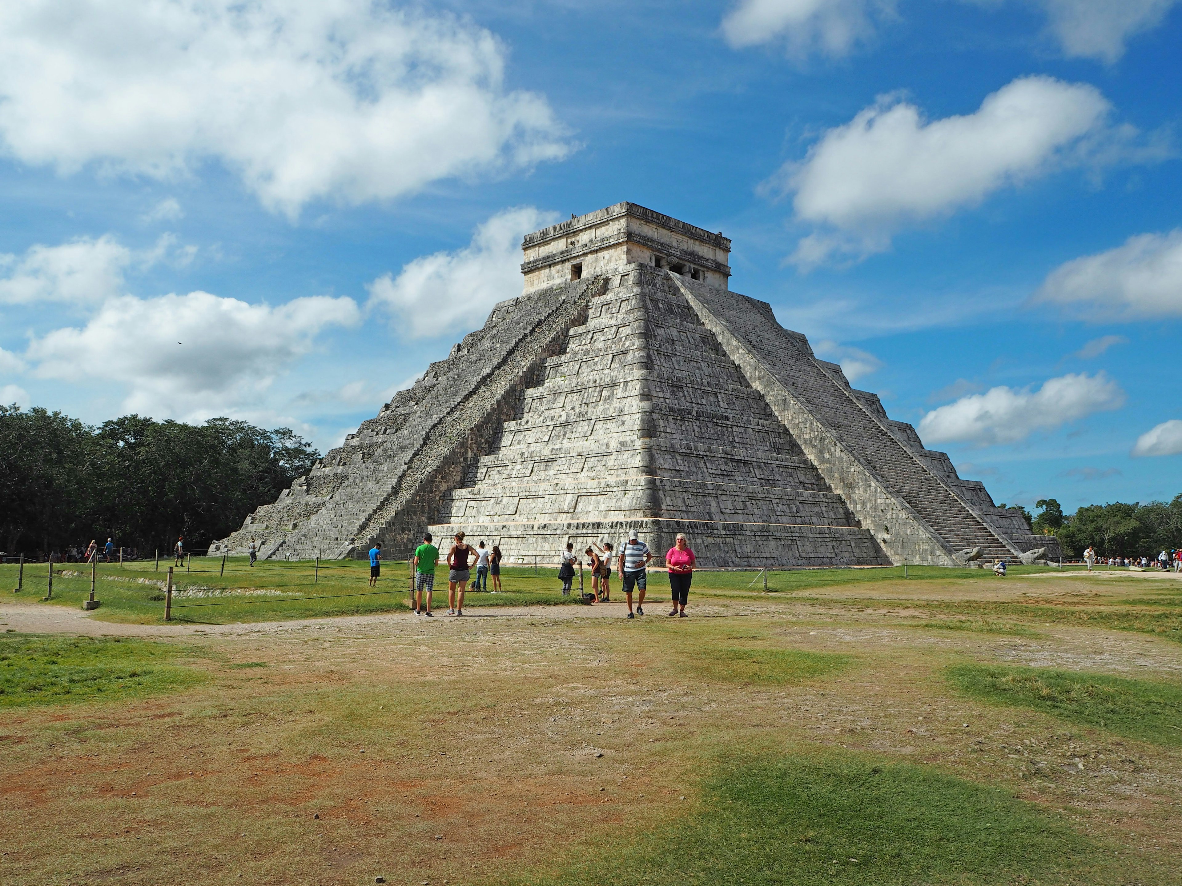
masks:
POLYGON ((658 561, 684 532, 702 566, 889 562, 674 275, 639 263, 591 299, 431 532, 551 563, 567 541, 618 551, 629 528, 658 561))

